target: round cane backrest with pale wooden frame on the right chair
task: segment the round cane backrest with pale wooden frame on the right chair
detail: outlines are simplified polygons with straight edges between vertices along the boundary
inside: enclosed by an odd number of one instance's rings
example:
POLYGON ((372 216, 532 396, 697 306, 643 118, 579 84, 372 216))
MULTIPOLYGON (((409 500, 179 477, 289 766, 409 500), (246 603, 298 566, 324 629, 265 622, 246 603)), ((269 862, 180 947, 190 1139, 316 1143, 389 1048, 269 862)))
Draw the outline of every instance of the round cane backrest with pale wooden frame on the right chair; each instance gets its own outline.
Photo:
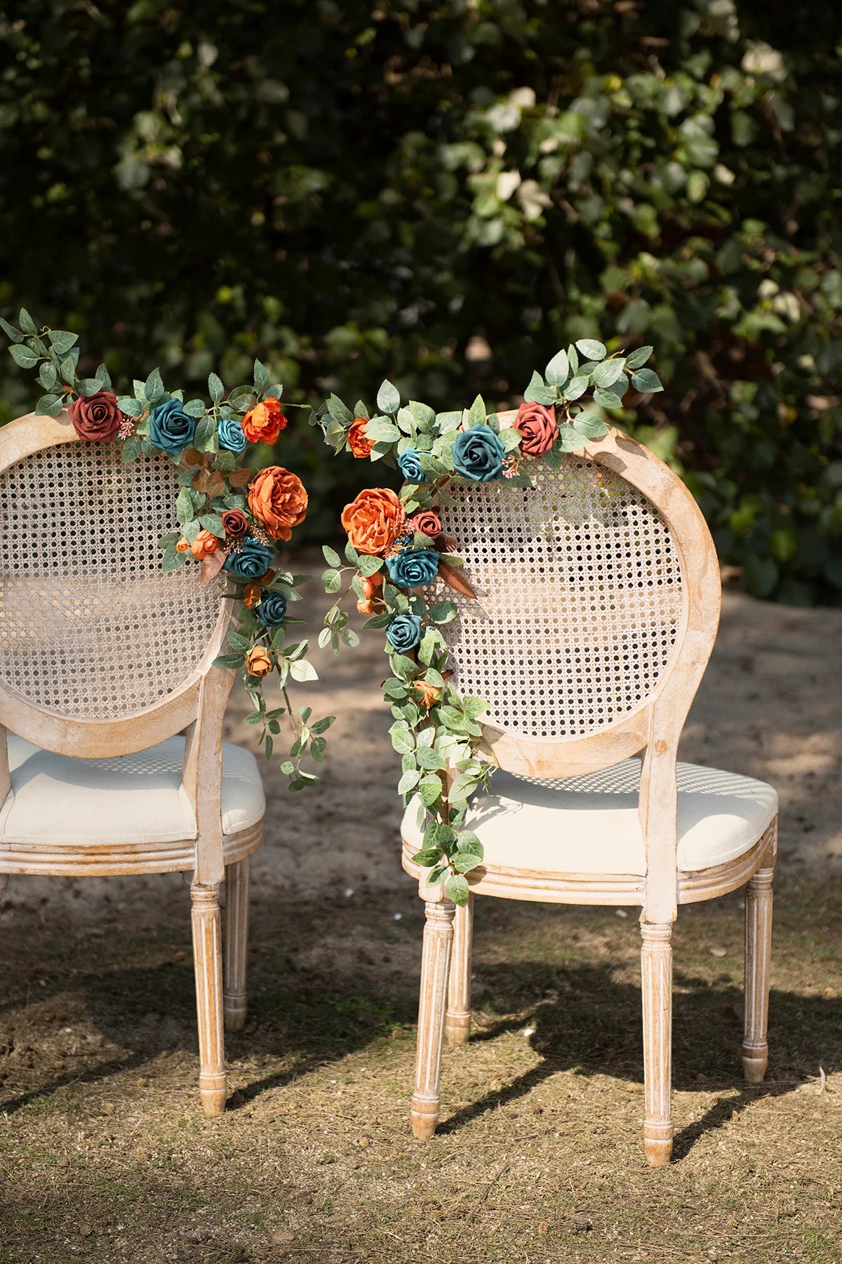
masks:
POLYGON ((457 597, 442 632, 454 683, 490 704, 497 762, 574 776, 643 750, 658 699, 680 732, 716 636, 718 565, 687 488, 627 436, 529 470, 531 490, 452 489, 442 525, 478 599, 457 597))

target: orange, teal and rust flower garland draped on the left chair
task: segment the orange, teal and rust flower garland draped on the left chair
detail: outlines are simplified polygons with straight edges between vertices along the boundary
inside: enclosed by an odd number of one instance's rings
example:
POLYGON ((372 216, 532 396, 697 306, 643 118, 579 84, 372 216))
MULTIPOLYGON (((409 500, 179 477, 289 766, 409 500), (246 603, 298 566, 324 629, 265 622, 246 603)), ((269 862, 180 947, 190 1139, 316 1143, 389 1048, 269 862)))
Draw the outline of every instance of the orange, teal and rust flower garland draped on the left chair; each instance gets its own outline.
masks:
MULTIPOLYGON (((179 492, 173 506, 178 531, 158 541, 162 569, 178 570, 188 561, 201 562, 199 583, 210 583, 225 570, 240 600, 237 627, 228 632, 231 653, 216 659, 220 667, 239 667, 254 710, 246 724, 260 724, 260 744, 271 757, 274 738, 283 715, 289 717, 293 742, 282 772, 290 790, 302 790, 317 776, 302 769, 309 755, 321 762, 332 715, 311 722, 312 710, 297 713, 287 689, 288 679, 316 680, 307 661, 307 641, 287 643, 287 629, 303 619, 288 617, 288 603, 300 600, 298 588, 308 575, 274 569, 276 541, 289 540, 307 513, 307 492, 300 479, 280 465, 268 465, 256 474, 241 464, 249 442, 271 446, 287 426, 280 406, 283 387, 273 384, 259 360, 254 383, 227 393, 211 373, 207 380, 210 407, 203 399, 188 399, 181 389, 167 391, 158 369, 145 382, 135 379, 134 394, 117 398, 111 377, 101 364, 92 378, 77 373, 78 335, 61 329, 38 329, 21 308, 18 327, 0 319, 10 339, 15 364, 38 369, 44 388, 35 404, 38 416, 58 417, 69 412, 73 427, 90 442, 119 442, 126 464, 140 456, 165 453, 178 468, 179 492), (268 708, 263 686, 278 674, 284 705, 268 708)), ((300 406, 293 406, 300 407, 300 406)))

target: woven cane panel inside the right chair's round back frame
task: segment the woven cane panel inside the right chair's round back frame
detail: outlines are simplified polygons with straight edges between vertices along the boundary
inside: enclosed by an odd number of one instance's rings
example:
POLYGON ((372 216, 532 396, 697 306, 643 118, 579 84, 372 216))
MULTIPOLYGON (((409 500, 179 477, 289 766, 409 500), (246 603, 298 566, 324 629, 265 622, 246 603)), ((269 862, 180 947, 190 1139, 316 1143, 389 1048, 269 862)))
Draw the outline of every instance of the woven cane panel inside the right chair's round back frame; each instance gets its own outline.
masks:
MULTIPOLYGON (((583 737, 648 698, 679 632, 678 551, 624 479, 566 455, 535 487, 462 487, 441 513, 478 600, 441 580, 458 617, 442 632, 463 694, 524 737, 583 737)), ((430 594, 432 595, 432 594, 430 594)))

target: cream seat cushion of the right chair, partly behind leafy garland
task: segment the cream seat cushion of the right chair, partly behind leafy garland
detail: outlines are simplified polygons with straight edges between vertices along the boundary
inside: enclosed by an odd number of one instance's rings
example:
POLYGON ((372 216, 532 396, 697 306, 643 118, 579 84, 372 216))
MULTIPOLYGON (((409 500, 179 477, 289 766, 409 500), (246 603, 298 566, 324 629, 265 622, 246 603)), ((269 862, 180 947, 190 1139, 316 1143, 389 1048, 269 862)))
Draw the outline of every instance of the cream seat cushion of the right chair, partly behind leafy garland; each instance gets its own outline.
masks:
MULTIPOLYGON (((742 856, 778 811, 764 781, 696 763, 678 765, 678 868, 684 872, 742 856)), ((640 760, 582 777, 539 781, 497 771, 491 794, 477 794, 467 828, 485 863, 544 873, 646 872, 637 815, 640 760)), ((404 842, 417 851, 418 800, 404 814, 404 842)))

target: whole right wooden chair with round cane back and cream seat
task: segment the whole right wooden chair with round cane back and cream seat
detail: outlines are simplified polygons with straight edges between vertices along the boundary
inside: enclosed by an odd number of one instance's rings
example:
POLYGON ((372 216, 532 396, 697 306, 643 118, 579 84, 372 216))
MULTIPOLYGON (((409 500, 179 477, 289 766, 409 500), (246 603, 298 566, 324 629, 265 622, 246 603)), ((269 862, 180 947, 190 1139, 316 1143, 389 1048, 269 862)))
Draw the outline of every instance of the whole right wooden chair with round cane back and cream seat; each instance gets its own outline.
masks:
POLYGON ((485 741, 502 771, 468 813, 485 857, 466 906, 427 887, 412 860, 415 801, 403 822, 403 866, 427 911, 413 1131, 436 1130, 443 1029, 453 1044, 468 1038, 475 896, 635 905, 644 1145, 660 1165, 673 1145, 673 921, 679 905, 745 882, 742 1064, 752 1082, 766 1071, 778 798, 749 777, 677 765, 721 597, 713 542, 680 479, 615 430, 558 473, 530 470, 531 492, 460 488, 441 512, 478 594, 457 598, 443 628, 454 683, 490 703, 485 741))

